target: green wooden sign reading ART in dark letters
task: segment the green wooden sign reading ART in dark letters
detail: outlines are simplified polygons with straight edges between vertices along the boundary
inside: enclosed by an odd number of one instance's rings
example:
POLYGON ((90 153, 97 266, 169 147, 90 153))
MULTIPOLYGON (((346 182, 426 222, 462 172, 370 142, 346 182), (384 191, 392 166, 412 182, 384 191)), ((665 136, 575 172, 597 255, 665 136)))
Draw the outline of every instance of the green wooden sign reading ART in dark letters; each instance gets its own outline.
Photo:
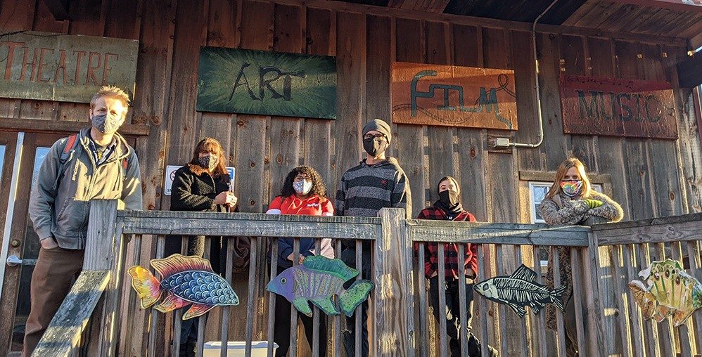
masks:
POLYGON ((336 119, 336 58, 203 47, 197 110, 336 119))

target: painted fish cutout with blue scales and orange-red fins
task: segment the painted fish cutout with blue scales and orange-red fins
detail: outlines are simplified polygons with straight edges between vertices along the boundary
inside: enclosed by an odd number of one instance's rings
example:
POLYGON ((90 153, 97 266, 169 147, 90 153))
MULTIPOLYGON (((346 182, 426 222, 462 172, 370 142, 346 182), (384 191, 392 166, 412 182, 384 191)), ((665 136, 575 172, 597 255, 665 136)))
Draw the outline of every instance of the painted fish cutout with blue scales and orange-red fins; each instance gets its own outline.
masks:
POLYGON ((239 304, 236 292, 212 271, 208 260, 173 254, 165 259, 152 259, 151 266, 161 275, 160 281, 141 266, 132 266, 128 271, 132 276, 132 287, 141 301, 141 309, 147 309, 161 298, 160 304, 153 308, 162 313, 192 304, 183 314, 183 320, 188 320, 215 306, 239 304))

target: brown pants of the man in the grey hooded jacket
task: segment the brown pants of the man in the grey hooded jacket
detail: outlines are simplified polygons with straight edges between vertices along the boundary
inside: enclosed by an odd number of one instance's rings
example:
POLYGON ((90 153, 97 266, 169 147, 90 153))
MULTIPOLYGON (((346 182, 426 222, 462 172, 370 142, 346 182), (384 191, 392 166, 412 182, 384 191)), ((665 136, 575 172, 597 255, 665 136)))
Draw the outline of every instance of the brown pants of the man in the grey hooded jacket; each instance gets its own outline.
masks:
POLYGON ((32 273, 32 307, 25 326, 23 357, 32 354, 63 299, 68 295, 73 278, 83 268, 84 252, 61 248, 39 249, 37 266, 34 266, 32 273))

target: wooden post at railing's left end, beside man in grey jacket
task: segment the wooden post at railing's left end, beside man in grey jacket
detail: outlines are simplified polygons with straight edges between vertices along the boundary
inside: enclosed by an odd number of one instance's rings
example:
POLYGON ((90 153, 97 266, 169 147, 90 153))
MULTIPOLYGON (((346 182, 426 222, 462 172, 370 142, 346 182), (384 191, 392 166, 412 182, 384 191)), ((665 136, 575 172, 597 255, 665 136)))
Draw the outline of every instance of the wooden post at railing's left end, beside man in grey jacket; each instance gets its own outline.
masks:
POLYGON ((120 323, 120 289, 126 249, 122 225, 117 224, 117 200, 91 200, 83 271, 109 271, 110 281, 96 307, 92 324, 99 335, 90 337, 89 356, 114 356, 120 323))

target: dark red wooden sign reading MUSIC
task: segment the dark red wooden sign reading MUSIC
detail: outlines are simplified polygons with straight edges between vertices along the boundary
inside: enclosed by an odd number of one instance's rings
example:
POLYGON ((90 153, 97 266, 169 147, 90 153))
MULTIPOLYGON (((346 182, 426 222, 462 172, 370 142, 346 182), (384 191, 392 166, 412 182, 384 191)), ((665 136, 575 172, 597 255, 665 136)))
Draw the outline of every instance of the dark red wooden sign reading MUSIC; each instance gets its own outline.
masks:
POLYGON ((566 134, 677 138, 668 82, 561 75, 566 134))

